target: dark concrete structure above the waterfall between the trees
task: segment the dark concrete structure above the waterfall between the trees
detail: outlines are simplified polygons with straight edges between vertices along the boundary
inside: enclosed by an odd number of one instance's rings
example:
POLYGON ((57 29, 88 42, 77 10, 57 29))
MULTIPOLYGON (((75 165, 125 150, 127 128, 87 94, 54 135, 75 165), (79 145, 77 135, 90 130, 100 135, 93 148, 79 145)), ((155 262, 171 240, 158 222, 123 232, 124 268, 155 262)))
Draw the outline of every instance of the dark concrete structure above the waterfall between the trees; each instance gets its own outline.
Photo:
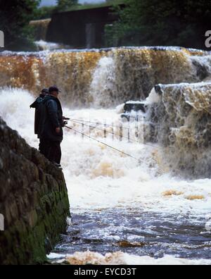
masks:
POLYGON ((112 6, 55 13, 49 23, 46 40, 76 49, 101 48, 106 46, 105 25, 113 24, 117 19, 112 6))

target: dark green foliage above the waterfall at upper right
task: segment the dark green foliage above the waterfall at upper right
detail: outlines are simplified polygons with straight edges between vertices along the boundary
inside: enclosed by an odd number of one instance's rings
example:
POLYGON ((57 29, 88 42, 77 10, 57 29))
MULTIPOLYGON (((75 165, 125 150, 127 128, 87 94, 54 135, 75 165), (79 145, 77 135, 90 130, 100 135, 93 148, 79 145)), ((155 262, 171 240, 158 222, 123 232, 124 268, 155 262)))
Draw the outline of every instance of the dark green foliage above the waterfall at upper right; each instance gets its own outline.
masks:
POLYGON ((115 11, 120 20, 106 27, 109 45, 205 47, 210 30, 210 0, 126 0, 115 11))

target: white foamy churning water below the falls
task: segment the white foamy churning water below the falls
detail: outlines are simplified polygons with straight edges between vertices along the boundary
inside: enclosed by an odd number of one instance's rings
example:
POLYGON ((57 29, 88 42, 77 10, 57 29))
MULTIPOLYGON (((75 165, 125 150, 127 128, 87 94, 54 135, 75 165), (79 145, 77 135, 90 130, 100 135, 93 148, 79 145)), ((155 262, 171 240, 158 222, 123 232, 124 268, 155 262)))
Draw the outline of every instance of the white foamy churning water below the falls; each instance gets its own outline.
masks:
MULTIPOLYGON (((27 140, 32 147, 38 146, 34 135, 34 110, 30 104, 34 97, 22 89, 0 89, 0 116, 13 129, 27 140)), ((63 104, 65 106, 65 104, 63 104)), ((64 115, 74 119, 91 120, 93 122, 118 125, 120 114, 115 109, 80 109, 72 111, 64 108, 64 115)), ((79 122, 79 121, 78 121, 79 122)), ((70 127, 82 131, 78 123, 69 123, 70 127)), ((94 125, 94 124, 93 124, 94 125)), ((98 125, 103 129, 103 125, 98 125)), ((89 135, 89 128, 84 126, 89 135)), ((115 130, 117 133, 117 130, 115 130)), ((190 214, 207 216, 211 212, 211 180, 181 180, 172 178, 167 170, 162 169, 159 150, 138 142, 103 138, 103 132, 90 131, 91 137, 101 140, 120 149, 146 163, 139 163, 103 144, 75 135, 71 130, 64 130, 62 143, 62 166, 68 186, 71 211, 84 211, 124 208, 140 209, 140 211, 173 214, 190 214)), ((133 133, 132 133, 133 135, 133 133)), ((77 254, 77 259, 86 255, 77 254)), ((89 255, 90 256, 90 255, 89 255)), ((115 254, 110 261, 99 255, 92 255, 101 263, 202 263, 167 256, 164 259, 152 259, 148 256, 129 256, 115 254), (100 259, 101 258, 101 259, 100 259)), ((71 258, 73 259, 73 258, 71 258)), ((84 260, 85 261, 85 260, 84 260)), ((94 260, 93 260, 94 261, 94 260)), ((210 261, 203 261, 210 263, 210 261)))

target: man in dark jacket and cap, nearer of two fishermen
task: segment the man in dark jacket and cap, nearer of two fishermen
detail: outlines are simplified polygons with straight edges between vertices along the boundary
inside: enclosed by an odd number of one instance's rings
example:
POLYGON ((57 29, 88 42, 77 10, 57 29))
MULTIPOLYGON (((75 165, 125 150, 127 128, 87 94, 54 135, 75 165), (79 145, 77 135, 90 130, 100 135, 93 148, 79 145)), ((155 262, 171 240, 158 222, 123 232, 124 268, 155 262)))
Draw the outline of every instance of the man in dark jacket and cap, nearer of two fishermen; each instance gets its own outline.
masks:
POLYGON ((40 138, 44 142, 44 156, 56 166, 60 166, 63 140, 63 110, 58 100, 60 91, 56 86, 49 87, 49 94, 41 102, 40 138))

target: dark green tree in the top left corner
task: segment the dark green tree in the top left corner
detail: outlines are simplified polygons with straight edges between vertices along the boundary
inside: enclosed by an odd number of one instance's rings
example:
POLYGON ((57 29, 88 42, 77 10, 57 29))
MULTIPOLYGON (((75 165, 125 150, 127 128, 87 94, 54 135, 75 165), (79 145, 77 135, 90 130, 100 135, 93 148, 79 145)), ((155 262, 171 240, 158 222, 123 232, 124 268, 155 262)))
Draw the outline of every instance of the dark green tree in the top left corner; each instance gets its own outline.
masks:
POLYGON ((33 49, 32 30, 29 26, 40 0, 1 0, 0 30, 4 32, 5 47, 9 50, 33 49))

